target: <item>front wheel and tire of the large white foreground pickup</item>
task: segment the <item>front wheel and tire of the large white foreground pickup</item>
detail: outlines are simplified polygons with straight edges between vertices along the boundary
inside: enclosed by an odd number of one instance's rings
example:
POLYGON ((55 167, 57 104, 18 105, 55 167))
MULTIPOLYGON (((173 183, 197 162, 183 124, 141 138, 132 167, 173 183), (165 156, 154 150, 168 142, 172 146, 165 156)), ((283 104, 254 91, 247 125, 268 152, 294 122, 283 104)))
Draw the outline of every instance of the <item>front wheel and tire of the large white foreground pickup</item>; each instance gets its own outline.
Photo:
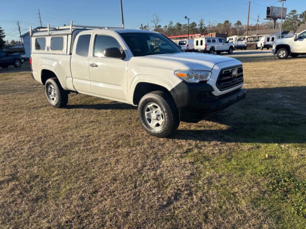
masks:
POLYGON ((179 110, 172 97, 162 91, 144 95, 138 104, 143 128, 156 137, 167 137, 180 125, 179 110))

